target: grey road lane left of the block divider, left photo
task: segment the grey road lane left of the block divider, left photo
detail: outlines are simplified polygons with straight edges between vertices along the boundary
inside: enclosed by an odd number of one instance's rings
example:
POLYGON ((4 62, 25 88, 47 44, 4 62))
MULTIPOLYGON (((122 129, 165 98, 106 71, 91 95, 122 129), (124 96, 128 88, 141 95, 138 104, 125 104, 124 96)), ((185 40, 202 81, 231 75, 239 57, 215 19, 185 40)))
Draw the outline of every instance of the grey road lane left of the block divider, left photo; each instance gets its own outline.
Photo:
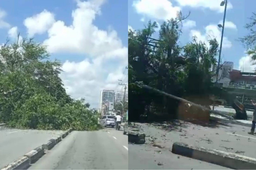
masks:
POLYGON ((0 127, 0 169, 61 133, 0 127))

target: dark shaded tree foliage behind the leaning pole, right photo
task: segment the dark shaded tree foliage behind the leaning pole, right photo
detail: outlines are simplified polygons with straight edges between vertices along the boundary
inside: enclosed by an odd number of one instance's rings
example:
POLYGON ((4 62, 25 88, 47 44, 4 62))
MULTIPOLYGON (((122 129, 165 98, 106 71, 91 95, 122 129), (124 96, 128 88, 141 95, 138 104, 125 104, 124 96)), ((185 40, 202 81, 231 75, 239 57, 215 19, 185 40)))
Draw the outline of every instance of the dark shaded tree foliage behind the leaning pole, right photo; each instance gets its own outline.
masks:
POLYGON ((156 22, 150 21, 141 31, 128 33, 129 99, 132 99, 129 120, 154 117, 155 113, 175 118, 179 106, 177 100, 139 88, 136 82, 178 97, 211 93, 211 68, 216 65, 218 43, 212 39, 208 48, 194 37, 184 47, 180 46, 184 19, 180 13, 164 22, 158 39, 153 38, 156 22))

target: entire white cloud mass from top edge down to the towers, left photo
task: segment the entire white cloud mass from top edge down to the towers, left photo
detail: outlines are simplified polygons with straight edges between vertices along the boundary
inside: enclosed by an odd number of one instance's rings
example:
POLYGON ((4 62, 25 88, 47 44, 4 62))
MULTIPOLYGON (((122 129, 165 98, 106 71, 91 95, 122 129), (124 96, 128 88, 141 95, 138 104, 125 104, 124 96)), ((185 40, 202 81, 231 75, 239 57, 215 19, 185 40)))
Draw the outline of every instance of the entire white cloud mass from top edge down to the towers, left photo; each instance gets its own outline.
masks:
POLYGON ((117 86, 117 79, 123 78, 123 83, 128 81, 125 76, 128 48, 123 46, 115 30, 100 30, 93 24, 96 16, 101 14, 100 7, 104 0, 76 2, 72 24, 66 26, 61 20, 55 21, 47 30, 48 38, 43 44, 51 53, 87 56, 81 62, 66 61, 60 77, 67 94, 75 99, 83 97, 91 107, 98 107, 100 90, 120 90, 122 87, 117 86))

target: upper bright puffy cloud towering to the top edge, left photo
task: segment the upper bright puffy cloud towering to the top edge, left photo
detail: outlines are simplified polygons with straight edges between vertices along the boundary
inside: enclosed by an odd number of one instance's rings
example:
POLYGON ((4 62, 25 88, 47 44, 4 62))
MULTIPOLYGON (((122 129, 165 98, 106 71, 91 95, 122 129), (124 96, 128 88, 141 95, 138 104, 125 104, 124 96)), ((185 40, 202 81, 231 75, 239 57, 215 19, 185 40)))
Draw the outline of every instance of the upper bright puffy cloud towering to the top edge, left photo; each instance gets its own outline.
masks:
POLYGON ((77 8, 72 12, 72 25, 66 26, 63 21, 58 20, 48 30, 49 38, 43 43, 48 46, 48 51, 99 56, 123 48, 115 30, 100 30, 93 25, 103 3, 104 0, 77 0, 77 8))

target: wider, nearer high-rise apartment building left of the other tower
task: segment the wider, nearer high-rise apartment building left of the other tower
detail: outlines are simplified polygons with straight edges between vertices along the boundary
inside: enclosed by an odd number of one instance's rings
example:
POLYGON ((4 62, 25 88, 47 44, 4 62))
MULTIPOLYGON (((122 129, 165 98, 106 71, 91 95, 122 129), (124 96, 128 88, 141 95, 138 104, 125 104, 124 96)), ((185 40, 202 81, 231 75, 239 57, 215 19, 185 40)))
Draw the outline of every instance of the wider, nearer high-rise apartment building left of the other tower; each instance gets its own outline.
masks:
POLYGON ((115 103, 114 90, 102 90, 100 92, 99 109, 102 115, 107 114, 108 111, 112 111, 114 109, 114 103, 115 103))

